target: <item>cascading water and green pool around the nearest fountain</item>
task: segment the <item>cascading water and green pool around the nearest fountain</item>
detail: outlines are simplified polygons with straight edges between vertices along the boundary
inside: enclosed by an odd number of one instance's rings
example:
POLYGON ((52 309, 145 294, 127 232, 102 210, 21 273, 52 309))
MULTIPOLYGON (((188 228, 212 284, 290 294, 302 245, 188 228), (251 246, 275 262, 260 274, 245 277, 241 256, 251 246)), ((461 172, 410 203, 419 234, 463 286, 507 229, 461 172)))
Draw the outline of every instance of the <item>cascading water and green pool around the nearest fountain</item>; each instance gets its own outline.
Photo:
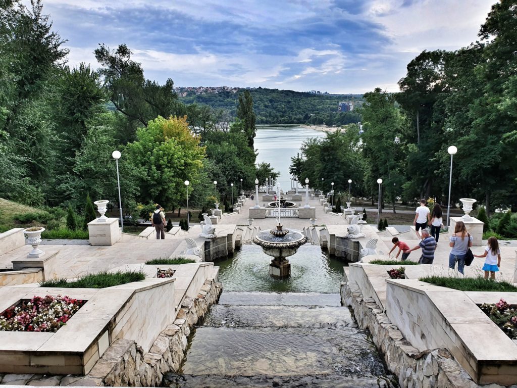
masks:
POLYGON ((272 279, 269 257, 245 245, 220 265, 223 292, 189 338, 171 387, 394 387, 367 333, 341 306, 343 262, 318 246, 272 279))

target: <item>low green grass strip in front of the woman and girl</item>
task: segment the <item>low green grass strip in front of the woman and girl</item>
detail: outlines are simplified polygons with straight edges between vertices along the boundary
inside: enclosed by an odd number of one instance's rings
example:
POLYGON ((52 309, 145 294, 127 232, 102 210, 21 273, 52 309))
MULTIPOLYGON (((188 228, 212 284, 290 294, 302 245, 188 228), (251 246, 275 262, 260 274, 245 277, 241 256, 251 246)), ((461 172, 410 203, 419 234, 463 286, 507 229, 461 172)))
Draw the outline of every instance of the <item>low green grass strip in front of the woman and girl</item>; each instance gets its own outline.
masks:
POLYGON ((499 291, 515 292, 517 287, 507 281, 485 280, 482 276, 478 277, 446 277, 446 276, 427 276, 418 279, 435 286, 453 288, 460 291, 499 291))

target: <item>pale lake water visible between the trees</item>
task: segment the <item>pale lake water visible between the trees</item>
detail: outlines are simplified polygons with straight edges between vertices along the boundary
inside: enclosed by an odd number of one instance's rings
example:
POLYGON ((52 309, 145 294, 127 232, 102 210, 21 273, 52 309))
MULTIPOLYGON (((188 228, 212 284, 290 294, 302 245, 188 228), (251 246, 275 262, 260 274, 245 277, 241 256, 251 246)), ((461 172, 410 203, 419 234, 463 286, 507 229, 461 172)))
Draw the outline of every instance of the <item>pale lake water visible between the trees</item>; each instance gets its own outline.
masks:
POLYGON ((254 146, 258 151, 256 162, 270 163, 275 171, 280 172, 278 183, 284 191, 287 191, 291 188, 289 174, 291 157, 300 152, 300 147, 305 140, 321 138, 325 135, 326 133, 323 131, 301 127, 257 128, 254 139, 254 146))

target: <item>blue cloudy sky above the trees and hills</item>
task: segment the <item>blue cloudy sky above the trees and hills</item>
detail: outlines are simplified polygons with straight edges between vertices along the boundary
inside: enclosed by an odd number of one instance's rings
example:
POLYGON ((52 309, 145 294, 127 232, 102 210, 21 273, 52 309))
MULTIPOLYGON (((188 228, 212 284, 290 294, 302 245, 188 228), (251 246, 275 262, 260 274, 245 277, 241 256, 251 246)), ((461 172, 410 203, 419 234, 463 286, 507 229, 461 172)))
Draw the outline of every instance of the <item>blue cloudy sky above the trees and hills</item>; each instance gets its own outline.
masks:
POLYGON ((364 93, 399 90, 423 50, 476 41, 495 0, 43 0, 71 66, 126 43, 147 79, 364 93))

